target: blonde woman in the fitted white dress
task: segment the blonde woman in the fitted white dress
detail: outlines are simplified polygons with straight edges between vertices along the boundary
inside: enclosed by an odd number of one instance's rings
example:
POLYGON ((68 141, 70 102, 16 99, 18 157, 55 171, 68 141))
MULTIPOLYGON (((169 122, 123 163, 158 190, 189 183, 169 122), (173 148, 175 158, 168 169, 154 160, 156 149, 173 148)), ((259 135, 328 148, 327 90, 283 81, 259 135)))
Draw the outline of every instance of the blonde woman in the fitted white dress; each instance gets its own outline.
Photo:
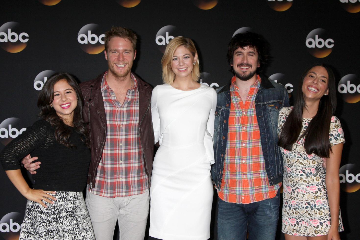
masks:
POLYGON ((152 92, 155 155, 150 187, 150 233, 158 239, 210 237, 216 91, 198 83, 192 40, 175 37, 161 59, 165 84, 152 92))

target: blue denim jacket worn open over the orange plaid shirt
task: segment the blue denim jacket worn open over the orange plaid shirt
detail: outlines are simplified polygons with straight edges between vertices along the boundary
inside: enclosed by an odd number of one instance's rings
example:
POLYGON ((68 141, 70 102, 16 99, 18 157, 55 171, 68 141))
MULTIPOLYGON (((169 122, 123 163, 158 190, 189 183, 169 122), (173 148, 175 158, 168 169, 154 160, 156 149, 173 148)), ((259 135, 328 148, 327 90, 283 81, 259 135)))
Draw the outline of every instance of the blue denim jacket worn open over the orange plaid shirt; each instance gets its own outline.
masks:
MULTIPOLYGON (((278 147, 279 110, 289 106, 289 95, 283 85, 268 80, 261 75, 260 88, 255 97, 256 118, 260 129, 262 153, 265 169, 270 185, 283 180, 283 158, 278 147)), ((214 130, 215 164, 212 165, 211 176, 217 188, 220 188, 226 141, 228 140, 228 120, 230 114, 230 84, 220 88, 217 93, 214 130)))

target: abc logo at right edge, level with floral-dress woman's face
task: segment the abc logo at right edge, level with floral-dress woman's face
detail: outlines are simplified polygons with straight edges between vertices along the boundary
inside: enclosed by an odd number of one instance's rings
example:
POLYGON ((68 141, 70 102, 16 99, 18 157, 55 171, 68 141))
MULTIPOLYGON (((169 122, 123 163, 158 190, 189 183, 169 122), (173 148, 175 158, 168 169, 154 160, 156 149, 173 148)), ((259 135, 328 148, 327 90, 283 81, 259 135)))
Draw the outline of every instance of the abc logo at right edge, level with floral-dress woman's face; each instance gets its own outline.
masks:
POLYGON ((347 103, 357 103, 360 101, 360 80, 355 74, 343 76, 338 84, 338 91, 342 94, 347 103))

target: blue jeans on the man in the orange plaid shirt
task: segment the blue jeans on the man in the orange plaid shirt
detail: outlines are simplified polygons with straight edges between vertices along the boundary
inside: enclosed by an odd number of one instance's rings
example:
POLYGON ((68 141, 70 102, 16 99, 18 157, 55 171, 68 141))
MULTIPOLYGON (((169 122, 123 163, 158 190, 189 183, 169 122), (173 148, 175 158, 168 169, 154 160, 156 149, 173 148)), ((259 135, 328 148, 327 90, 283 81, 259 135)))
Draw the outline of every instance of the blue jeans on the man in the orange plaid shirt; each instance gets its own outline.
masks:
POLYGON ((249 240, 275 239, 279 219, 279 195, 249 204, 228 203, 219 198, 217 239, 249 240))

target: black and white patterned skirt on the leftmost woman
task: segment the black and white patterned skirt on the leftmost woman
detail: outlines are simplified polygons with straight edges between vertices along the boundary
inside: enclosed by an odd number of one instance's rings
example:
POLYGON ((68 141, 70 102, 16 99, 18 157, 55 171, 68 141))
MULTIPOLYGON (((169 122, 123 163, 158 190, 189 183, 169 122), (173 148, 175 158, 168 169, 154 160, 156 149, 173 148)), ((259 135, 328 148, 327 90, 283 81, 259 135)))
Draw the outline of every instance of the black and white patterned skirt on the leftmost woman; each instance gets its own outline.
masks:
POLYGON ((20 240, 95 239, 81 192, 57 191, 48 208, 27 200, 20 240))

